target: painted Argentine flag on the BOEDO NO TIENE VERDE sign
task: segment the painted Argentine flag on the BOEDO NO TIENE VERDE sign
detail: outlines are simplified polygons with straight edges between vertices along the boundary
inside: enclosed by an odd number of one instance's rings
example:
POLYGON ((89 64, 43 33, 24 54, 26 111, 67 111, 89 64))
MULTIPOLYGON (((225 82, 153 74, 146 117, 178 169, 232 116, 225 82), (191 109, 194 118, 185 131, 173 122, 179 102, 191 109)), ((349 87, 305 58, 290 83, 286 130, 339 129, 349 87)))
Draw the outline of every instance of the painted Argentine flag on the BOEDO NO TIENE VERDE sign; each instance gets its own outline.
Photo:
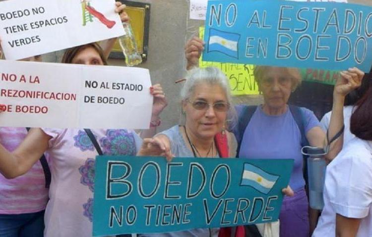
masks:
POLYGON ((274 187, 279 176, 269 174, 262 169, 245 163, 242 182, 240 185, 250 186, 262 193, 269 193, 269 191, 274 187))

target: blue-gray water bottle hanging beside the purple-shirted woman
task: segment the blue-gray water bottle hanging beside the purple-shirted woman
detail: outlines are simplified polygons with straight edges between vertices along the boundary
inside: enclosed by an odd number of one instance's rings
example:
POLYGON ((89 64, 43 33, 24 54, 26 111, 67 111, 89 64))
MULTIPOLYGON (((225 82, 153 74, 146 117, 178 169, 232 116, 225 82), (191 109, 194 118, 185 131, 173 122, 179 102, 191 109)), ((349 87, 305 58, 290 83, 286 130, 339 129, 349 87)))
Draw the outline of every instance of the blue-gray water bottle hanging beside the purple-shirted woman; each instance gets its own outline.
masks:
MULTIPOLYGON (((305 148, 305 147, 304 147, 305 148)), ((308 162, 308 182, 309 182, 309 202, 312 209, 323 209, 323 187, 325 179, 326 162, 324 159, 324 149, 319 147, 307 146, 306 152, 309 155, 308 162)))

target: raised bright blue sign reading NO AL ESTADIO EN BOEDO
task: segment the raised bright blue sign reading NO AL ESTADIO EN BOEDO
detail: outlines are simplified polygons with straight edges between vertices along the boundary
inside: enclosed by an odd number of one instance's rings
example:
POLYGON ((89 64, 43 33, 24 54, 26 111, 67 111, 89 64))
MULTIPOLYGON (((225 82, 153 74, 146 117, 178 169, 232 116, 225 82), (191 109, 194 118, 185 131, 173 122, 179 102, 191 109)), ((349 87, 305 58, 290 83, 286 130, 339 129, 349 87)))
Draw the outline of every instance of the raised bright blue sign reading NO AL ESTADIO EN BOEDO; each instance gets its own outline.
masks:
POLYGON ((369 72, 372 7, 337 2, 208 1, 203 60, 369 72))

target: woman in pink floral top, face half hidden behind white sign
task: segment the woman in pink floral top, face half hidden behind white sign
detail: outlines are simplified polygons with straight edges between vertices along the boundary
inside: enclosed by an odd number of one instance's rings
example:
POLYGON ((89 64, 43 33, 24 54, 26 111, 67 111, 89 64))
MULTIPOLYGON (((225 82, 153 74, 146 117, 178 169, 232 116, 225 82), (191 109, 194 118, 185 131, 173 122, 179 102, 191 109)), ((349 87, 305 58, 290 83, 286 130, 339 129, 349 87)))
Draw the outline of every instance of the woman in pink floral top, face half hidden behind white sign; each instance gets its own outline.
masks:
MULTIPOLYGON (((62 62, 107 65, 97 44, 68 49, 62 62)), ((154 85, 150 93, 154 96, 152 118, 157 118, 167 104, 165 95, 160 85, 154 85)), ((107 155, 135 155, 142 142, 134 131, 125 129, 91 132, 107 155)), ((33 128, 13 152, 0 145, 0 173, 6 178, 18 177, 30 170, 43 153, 52 161, 44 235, 92 236, 96 147, 84 129, 33 128)))

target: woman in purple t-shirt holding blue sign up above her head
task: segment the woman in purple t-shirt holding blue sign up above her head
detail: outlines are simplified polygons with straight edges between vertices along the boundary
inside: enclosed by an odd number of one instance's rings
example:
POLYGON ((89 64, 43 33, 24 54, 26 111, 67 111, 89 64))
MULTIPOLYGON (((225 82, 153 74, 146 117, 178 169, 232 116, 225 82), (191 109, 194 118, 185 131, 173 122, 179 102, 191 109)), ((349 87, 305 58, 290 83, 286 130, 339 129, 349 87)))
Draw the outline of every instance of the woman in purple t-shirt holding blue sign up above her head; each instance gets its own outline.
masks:
MULTIPOLYGON (((197 59, 204 49, 203 45, 204 43, 196 37, 187 42, 185 47, 187 69, 197 65, 197 59)), ((312 111, 287 104, 291 92, 301 83, 301 75, 295 68, 256 66, 254 77, 264 102, 254 107, 247 105, 236 107, 239 120, 234 134, 238 141, 238 157, 295 160, 289 183, 295 190, 295 195, 284 198, 279 216, 281 237, 310 235, 309 202, 305 191, 301 148, 305 140, 310 146, 326 147, 329 145, 328 139, 332 139, 343 129, 345 96, 360 86, 364 73, 357 68, 350 68, 341 72, 341 76, 333 92, 328 138, 312 111)), ((331 161, 341 147, 342 136, 329 145, 326 159, 331 161)), ((316 219, 310 223, 313 229, 316 219)))

